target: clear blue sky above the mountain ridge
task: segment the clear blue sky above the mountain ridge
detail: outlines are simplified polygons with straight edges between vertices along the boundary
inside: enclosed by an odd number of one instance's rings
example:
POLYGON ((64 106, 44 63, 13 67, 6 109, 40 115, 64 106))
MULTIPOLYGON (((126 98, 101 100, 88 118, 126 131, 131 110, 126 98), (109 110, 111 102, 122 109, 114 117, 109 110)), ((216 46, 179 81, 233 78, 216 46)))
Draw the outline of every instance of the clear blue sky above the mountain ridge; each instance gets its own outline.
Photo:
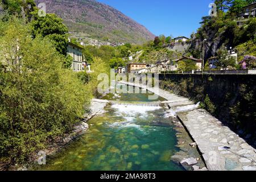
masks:
POLYGON ((97 0, 142 24, 155 35, 190 36, 208 15, 212 0, 97 0))

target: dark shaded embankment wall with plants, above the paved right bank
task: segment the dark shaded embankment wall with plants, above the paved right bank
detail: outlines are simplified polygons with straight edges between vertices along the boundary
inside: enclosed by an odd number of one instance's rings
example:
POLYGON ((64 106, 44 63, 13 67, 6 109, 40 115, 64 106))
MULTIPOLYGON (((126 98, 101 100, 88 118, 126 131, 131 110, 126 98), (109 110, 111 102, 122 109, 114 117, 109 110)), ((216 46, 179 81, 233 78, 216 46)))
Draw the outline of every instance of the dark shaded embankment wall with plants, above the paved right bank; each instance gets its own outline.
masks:
POLYGON ((161 88, 201 101, 201 107, 241 137, 255 139, 255 75, 161 74, 159 80, 161 88))

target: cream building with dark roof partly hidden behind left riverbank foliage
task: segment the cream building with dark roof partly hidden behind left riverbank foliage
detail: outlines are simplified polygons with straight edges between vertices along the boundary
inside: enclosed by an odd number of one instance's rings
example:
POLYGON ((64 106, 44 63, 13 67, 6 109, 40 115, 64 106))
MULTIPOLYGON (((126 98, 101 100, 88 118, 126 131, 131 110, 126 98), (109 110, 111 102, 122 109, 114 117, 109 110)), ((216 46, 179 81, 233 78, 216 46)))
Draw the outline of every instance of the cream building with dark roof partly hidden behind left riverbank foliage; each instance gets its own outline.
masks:
POLYGON ((68 42, 67 54, 73 57, 72 70, 75 72, 82 71, 82 47, 68 42))

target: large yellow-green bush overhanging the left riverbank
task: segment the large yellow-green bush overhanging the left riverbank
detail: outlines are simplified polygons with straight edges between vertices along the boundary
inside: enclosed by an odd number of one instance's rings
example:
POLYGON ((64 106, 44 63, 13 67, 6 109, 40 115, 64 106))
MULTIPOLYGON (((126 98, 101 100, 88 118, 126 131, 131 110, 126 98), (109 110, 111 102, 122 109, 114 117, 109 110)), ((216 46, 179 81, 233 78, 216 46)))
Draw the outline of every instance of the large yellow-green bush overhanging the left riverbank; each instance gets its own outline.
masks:
POLYGON ((23 162, 80 122, 90 93, 46 38, 14 20, 0 36, 0 156, 23 162))

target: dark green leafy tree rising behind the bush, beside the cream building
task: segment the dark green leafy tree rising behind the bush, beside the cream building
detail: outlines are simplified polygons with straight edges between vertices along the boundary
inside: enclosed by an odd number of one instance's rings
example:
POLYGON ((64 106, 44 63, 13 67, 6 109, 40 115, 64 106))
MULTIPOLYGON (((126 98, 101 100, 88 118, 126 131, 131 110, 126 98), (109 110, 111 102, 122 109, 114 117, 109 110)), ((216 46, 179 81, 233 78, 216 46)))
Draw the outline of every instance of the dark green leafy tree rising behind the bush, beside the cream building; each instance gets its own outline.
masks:
POLYGON ((68 28, 63 24, 63 20, 55 14, 38 16, 38 11, 34 11, 34 19, 31 22, 32 35, 49 38, 58 52, 67 54, 68 28))

